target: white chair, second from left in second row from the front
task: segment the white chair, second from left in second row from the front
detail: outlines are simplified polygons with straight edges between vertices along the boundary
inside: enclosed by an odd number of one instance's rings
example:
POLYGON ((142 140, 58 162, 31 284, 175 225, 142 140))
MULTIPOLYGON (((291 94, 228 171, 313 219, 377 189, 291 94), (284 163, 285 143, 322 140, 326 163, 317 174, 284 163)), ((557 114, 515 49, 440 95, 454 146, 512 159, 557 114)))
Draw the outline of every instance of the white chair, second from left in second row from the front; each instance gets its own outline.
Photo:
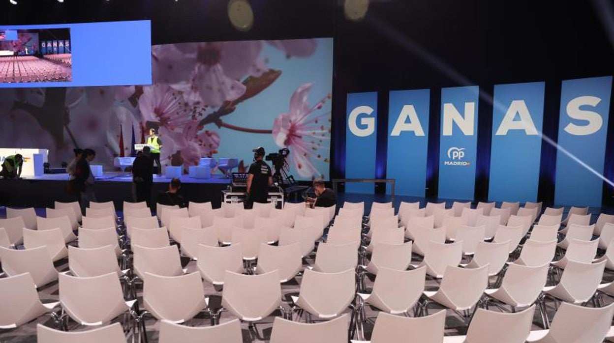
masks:
POLYGON ((117 273, 74 277, 60 274, 62 309, 79 325, 97 326, 129 314, 135 300, 124 301, 117 273))

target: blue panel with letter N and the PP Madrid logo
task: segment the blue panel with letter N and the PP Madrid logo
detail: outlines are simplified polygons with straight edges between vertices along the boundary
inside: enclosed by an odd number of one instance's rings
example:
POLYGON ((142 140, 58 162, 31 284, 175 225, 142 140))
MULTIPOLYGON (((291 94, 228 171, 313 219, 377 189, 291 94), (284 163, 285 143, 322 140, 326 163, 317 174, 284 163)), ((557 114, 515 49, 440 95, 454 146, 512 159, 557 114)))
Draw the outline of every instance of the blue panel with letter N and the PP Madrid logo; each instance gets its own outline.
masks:
POLYGON ((439 144, 438 196, 446 199, 473 199, 475 157, 478 142, 478 86, 441 89, 441 129, 439 144), (472 109, 465 113, 465 108, 472 109), (456 121, 446 125, 446 112, 457 112, 459 121, 467 121, 466 133, 456 121), (446 127, 451 128, 446 133, 446 127))

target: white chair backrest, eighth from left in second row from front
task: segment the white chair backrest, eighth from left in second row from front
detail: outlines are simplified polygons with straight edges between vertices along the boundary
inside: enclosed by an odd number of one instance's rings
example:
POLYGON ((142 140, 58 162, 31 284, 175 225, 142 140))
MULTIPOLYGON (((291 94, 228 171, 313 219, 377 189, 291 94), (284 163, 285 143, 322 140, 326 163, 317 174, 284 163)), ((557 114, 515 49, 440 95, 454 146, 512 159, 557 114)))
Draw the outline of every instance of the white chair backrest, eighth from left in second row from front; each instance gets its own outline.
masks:
POLYGON ((517 304, 532 304, 546 285, 549 267, 548 263, 542 266, 511 263, 505 271, 500 288, 505 290, 510 298, 508 300, 517 304))

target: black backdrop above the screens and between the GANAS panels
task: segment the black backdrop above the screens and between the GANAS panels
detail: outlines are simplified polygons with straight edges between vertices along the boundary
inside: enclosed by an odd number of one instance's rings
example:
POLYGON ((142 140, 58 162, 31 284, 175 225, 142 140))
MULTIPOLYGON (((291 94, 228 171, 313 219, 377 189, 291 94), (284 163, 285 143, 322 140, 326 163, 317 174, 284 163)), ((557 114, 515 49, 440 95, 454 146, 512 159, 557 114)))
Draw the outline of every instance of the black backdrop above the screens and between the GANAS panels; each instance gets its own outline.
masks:
MULTIPOLYGON (((545 81, 543 133, 556 141, 561 80, 614 74, 614 23, 600 15, 603 5, 612 9, 610 0, 371 0, 359 22, 344 17, 344 0, 251 0, 255 22, 247 33, 231 26, 225 0, 17 1, 0 2, 0 25, 150 19, 153 44, 334 37, 331 177, 345 174, 346 94, 378 92, 376 177, 385 177, 388 92, 429 88, 429 198, 437 196, 441 88, 480 86, 475 199, 485 200, 494 85, 545 81)), ((113 39, 121 37, 109 37, 110 46, 113 39)), ((611 101, 608 179, 613 155, 611 101)), ((554 199, 555 166, 556 148, 543 142, 538 198, 546 204, 554 199)), ((604 204, 613 196, 604 182, 604 204)))

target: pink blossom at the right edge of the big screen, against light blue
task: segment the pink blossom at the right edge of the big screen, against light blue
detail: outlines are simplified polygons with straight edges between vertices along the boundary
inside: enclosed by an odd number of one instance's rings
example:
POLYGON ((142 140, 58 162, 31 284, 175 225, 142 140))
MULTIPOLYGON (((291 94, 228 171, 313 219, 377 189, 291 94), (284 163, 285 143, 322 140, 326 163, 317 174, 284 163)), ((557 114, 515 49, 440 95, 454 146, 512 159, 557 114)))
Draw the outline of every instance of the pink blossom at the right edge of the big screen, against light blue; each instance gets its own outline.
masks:
MULTIPOLYGON (((289 160, 301 177, 321 177, 311 160, 328 160, 323 158, 322 142, 330 139, 328 118, 330 112, 316 115, 316 110, 322 108, 325 99, 309 106, 307 98, 313 83, 305 83, 297 88, 290 98, 290 111, 282 113, 273 123, 273 140, 279 147, 291 150, 289 160)), ((328 155, 328 153, 326 153, 328 155)))

